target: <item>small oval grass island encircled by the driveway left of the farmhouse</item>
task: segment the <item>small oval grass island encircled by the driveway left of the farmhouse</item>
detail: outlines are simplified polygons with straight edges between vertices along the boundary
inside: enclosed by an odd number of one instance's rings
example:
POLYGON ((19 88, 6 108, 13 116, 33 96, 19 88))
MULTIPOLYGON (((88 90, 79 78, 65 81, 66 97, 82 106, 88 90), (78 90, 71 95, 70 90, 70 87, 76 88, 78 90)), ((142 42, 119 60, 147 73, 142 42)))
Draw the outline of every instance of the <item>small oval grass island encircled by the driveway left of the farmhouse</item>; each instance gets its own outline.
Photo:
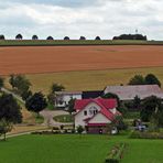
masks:
POLYGON ((74 118, 72 115, 61 115, 53 118, 57 122, 73 122, 74 118))

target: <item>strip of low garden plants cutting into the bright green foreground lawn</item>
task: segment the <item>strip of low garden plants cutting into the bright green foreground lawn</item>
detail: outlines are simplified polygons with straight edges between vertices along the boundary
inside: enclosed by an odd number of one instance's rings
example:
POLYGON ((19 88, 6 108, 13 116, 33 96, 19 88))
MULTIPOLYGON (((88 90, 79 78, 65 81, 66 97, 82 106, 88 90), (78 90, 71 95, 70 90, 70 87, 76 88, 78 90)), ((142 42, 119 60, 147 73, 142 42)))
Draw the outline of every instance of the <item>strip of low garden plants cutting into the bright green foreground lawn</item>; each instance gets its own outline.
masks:
POLYGON ((123 157, 126 146, 126 143, 116 144, 106 157, 106 163, 119 163, 123 157))

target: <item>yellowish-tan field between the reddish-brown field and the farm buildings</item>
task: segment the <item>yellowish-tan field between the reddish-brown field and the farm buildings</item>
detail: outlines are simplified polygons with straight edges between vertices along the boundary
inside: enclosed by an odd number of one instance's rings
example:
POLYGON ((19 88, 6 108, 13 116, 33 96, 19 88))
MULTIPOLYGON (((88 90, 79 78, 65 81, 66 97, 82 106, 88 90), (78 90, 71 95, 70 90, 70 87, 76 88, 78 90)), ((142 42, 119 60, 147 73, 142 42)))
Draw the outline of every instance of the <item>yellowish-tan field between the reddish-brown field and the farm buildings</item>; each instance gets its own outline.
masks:
POLYGON ((163 67, 63 72, 26 75, 26 77, 33 85, 33 91, 42 90, 47 94, 53 83, 63 84, 67 90, 94 90, 104 89, 107 85, 127 84, 135 74, 149 73, 155 74, 163 84, 163 67))

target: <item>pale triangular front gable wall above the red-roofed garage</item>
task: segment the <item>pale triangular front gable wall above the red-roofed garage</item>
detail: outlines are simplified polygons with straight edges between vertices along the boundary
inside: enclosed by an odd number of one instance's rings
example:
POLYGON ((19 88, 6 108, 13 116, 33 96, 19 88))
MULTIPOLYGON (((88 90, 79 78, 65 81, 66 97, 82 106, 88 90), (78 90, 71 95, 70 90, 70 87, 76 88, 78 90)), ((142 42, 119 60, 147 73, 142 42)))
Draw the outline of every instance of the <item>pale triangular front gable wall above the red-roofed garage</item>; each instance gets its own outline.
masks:
POLYGON ((89 123, 111 123, 111 121, 99 112, 89 121, 89 123))

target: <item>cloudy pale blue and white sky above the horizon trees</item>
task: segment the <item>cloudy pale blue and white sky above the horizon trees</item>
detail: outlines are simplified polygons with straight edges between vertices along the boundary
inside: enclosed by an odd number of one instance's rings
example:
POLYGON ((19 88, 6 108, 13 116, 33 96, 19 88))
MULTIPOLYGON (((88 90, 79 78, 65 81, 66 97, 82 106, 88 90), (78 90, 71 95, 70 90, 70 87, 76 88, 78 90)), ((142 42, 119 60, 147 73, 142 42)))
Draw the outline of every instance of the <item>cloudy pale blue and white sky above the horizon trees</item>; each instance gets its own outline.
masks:
POLYGON ((24 39, 112 39, 138 32, 163 40, 163 0, 0 0, 0 34, 24 39))

